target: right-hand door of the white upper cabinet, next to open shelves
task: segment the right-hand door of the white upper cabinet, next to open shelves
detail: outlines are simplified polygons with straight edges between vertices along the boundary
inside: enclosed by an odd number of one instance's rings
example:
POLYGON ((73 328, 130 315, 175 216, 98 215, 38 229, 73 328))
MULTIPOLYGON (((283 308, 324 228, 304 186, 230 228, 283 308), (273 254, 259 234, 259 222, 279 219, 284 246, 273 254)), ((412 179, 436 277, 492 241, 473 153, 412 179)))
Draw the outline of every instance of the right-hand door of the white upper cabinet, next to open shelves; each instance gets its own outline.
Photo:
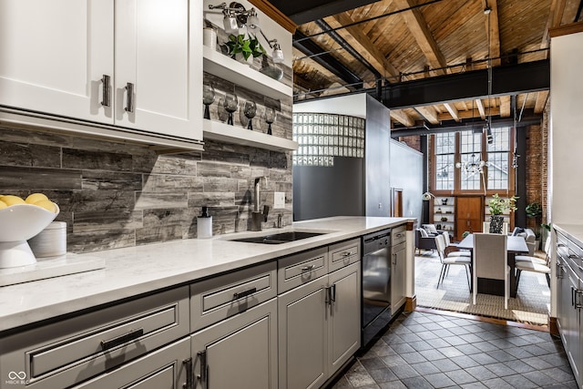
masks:
POLYGON ((202 8, 191 3, 116 1, 118 126, 202 139, 202 8))

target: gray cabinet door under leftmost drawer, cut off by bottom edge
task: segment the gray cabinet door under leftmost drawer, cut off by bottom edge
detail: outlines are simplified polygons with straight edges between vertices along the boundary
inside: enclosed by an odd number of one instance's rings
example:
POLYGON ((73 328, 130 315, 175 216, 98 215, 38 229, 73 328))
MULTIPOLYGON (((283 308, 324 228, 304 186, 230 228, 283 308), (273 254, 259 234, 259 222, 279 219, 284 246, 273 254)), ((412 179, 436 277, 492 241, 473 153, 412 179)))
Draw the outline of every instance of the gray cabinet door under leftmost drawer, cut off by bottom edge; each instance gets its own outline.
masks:
POLYGON ((185 363, 189 360, 189 356, 190 339, 184 338, 73 387, 76 389, 182 389, 187 384, 185 363))

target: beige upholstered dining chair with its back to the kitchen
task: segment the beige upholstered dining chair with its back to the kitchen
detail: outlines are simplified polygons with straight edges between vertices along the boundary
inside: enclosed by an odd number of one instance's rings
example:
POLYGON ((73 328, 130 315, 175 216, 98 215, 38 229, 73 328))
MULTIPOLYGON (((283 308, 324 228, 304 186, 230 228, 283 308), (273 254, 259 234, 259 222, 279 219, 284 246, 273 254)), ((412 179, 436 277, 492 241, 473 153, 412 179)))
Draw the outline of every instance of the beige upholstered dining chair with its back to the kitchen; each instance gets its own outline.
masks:
POLYGON ((506 234, 474 233, 473 300, 476 304, 477 279, 504 280, 504 309, 510 296, 510 267, 507 260, 506 234))

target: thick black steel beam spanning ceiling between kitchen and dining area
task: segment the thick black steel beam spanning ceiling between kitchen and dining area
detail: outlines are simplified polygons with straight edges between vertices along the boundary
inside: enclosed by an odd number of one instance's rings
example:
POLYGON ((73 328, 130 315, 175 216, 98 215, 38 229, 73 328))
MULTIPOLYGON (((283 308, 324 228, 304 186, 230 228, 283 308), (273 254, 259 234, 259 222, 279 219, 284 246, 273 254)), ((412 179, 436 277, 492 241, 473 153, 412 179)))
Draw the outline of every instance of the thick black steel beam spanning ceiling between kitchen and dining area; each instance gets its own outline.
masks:
MULTIPOLYGON (((548 59, 492 68, 492 97, 536 92, 550 88, 548 59)), ((375 95, 375 90, 367 93, 375 95)), ((488 97, 487 69, 387 84, 383 103, 389 108, 442 104, 488 97)))

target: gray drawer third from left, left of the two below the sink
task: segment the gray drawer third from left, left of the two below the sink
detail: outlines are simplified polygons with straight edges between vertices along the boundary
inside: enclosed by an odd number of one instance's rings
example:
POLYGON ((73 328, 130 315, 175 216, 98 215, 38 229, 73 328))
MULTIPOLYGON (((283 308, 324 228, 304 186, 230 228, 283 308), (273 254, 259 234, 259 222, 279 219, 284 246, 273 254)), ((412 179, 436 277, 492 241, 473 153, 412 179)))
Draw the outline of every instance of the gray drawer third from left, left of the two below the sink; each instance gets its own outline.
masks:
POLYGON ((286 292, 328 274, 328 247, 278 260, 278 292, 286 292))

